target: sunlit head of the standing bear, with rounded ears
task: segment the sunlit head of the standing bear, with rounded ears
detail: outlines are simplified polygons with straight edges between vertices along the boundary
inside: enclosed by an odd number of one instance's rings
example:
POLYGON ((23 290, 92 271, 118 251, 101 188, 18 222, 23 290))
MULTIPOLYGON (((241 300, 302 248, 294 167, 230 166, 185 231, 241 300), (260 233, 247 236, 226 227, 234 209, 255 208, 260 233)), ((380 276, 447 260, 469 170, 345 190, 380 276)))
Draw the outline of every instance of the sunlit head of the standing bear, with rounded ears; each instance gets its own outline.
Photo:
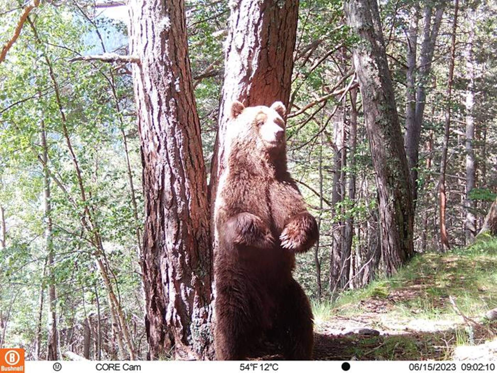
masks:
POLYGON ((271 158, 285 157, 285 106, 280 101, 271 106, 245 107, 234 101, 226 131, 226 155, 232 150, 257 151, 271 158))

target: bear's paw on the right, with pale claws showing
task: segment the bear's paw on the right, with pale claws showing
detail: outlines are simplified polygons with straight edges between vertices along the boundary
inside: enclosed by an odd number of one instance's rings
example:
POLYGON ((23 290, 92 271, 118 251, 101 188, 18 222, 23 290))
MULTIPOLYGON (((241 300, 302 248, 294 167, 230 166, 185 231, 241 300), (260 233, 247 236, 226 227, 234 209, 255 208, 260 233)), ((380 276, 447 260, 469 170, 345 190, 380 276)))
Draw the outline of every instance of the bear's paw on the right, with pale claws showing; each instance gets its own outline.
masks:
POLYGON ((281 247, 295 252, 305 252, 318 239, 318 224, 308 212, 300 213, 285 225, 280 235, 281 247))

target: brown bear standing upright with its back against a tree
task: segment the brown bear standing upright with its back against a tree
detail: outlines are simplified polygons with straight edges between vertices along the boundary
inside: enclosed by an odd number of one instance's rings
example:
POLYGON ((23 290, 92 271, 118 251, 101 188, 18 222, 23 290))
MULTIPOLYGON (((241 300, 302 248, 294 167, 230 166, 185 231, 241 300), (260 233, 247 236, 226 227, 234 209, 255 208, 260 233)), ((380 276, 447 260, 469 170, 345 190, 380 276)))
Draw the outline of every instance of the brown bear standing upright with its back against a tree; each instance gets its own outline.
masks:
POLYGON ((248 358, 261 340, 287 360, 312 356, 311 306, 292 270, 318 226, 287 171, 284 116, 279 101, 231 106, 214 216, 218 360, 248 358))

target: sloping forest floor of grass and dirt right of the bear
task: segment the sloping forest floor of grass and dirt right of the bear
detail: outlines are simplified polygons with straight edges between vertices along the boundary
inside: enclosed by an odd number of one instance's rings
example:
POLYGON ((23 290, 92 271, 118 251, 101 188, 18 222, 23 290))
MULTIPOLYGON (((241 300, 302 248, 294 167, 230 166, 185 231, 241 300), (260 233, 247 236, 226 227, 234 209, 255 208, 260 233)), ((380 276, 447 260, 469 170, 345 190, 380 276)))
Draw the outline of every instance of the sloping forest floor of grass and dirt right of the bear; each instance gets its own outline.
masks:
POLYGON ((391 279, 313 307, 314 359, 497 360, 497 322, 483 318, 495 307, 497 240, 418 254, 391 279))

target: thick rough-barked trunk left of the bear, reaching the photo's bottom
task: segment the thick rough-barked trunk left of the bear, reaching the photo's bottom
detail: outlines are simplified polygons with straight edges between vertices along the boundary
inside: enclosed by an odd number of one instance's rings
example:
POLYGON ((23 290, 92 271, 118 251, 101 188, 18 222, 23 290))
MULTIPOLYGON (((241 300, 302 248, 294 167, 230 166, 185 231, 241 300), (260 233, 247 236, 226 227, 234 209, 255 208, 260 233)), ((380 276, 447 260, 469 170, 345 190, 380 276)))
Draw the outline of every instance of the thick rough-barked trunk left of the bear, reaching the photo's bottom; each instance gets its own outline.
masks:
POLYGON ((207 183, 184 1, 131 0, 130 52, 141 138, 143 276, 150 358, 206 359, 211 335, 207 183))

